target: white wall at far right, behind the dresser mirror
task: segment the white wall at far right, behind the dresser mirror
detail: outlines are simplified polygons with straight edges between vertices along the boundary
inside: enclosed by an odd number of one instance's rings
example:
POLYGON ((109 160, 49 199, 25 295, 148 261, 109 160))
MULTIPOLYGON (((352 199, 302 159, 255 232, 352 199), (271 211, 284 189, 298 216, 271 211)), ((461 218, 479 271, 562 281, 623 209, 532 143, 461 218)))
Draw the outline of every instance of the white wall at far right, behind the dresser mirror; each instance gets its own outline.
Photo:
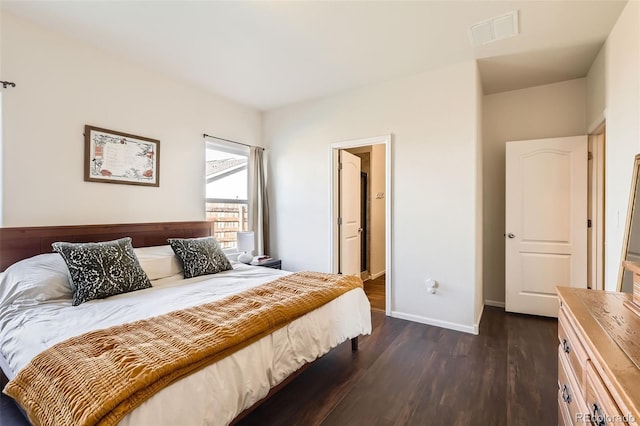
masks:
POLYGON ((627 3, 605 43, 605 288, 615 290, 633 158, 640 152, 640 2, 627 3))

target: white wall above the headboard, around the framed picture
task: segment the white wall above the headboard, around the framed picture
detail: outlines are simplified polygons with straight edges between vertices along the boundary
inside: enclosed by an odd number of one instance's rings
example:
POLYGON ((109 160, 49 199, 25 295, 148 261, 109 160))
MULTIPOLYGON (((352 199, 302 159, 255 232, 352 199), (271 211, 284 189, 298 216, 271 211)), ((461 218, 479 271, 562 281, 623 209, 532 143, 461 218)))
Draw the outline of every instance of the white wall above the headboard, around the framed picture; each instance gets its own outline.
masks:
POLYGON ((204 220, 202 133, 262 144, 260 111, 3 12, 0 226, 204 220), (160 140, 160 187, 85 182, 84 125, 160 140))

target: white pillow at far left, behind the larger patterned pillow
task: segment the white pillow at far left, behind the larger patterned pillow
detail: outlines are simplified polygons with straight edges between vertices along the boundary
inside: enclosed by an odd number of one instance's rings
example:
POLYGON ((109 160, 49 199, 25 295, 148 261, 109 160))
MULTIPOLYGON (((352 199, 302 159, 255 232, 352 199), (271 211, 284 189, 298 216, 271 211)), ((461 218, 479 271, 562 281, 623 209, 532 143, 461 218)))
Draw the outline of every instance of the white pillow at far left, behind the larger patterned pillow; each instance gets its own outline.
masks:
POLYGON ((9 266, 0 280, 0 306, 34 306, 73 297, 69 270, 58 253, 39 254, 9 266))

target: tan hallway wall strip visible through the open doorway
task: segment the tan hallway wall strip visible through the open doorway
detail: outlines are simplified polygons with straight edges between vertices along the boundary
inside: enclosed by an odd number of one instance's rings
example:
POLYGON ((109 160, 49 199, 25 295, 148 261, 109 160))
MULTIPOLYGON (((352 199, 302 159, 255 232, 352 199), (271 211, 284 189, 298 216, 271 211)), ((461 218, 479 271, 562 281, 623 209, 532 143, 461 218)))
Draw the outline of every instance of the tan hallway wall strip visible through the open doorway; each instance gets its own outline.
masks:
MULTIPOLYGON (((371 146, 371 275, 377 278, 385 273, 385 199, 376 194, 385 193, 385 146, 371 146)), ((385 194, 386 197, 386 194, 385 194)))

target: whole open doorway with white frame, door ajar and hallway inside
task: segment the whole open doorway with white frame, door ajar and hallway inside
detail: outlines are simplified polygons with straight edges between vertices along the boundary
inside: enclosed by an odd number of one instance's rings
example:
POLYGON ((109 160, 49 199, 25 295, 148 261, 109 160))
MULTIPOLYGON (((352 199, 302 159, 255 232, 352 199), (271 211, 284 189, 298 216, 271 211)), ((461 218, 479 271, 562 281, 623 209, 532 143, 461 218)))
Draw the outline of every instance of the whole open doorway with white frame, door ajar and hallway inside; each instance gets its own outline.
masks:
POLYGON ((387 315, 392 299, 390 142, 388 135, 333 144, 330 199, 332 272, 359 275, 372 308, 387 315))

